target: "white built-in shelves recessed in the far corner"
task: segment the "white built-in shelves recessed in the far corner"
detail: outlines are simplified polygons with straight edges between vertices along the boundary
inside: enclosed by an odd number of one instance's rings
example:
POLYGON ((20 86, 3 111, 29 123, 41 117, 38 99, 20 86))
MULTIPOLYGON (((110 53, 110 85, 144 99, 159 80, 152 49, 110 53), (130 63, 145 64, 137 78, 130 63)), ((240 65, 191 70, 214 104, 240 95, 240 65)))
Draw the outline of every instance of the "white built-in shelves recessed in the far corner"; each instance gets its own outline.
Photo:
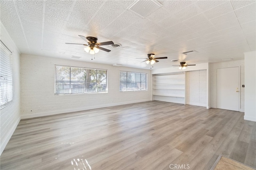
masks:
POLYGON ((153 75, 153 99, 185 104, 185 73, 153 75))

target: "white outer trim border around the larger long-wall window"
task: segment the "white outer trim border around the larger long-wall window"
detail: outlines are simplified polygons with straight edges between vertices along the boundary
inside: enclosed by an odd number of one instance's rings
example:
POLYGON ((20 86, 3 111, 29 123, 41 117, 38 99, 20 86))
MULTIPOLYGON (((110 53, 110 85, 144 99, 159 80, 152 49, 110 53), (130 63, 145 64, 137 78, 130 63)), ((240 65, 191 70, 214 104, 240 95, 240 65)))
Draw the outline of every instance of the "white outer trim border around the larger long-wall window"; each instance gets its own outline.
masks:
MULTIPOLYGON (((71 72, 70 72, 71 73, 71 72)), ((108 69, 98 69, 98 68, 88 68, 88 67, 80 67, 80 66, 70 66, 70 65, 58 65, 55 64, 54 65, 54 95, 86 95, 86 94, 99 94, 99 93, 108 93, 108 69), (102 71, 106 71, 106 91, 99 91, 99 92, 84 92, 84 93, 55 93, 55 83, 56 83, 56 79, 55 79, 55 68, 56 66, 60 66, 60 67, 74 67, 74 68, 82 68, 82 69, 93 69, 93 70, 102 70, 102 71)))

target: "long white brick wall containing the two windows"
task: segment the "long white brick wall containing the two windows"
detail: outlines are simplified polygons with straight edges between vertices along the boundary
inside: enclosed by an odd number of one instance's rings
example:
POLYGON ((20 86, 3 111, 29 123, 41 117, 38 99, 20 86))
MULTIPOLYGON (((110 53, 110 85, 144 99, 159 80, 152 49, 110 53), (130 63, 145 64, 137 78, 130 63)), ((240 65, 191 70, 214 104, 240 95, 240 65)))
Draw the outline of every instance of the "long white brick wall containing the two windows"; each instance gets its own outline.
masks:
POLYGON ((151 100, 150 70, 24 54, 20 60, 22 119, 151 100), (107 69, 108 93, 54 95, 54 65, 107 69), (148 90, 120 92, 120 71, 147 73, 148 90))

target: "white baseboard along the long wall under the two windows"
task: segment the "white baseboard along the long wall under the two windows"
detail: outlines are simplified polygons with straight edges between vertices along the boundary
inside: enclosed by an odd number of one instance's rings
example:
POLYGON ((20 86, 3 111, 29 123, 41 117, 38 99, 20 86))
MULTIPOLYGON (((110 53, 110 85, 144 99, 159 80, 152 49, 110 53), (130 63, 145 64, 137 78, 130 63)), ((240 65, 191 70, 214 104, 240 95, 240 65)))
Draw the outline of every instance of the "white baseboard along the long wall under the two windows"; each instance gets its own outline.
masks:
POLYGON ((90 109, 99 109, 99 108, 103 108, 103 107, 127 105, 127 104, 140 103, 140 102, 145 102, 145 101, 150 101, 150 100, 120 102, 120 103, 111 103, 111 104, 107 104, 107 105, 97 105, 97 106, 80 107, 80 108, 50 111, 50 112, 32 113, 32 114, 21 115, 21 119, 29 119, 29 118, 34 118, 34 117, 58 115, 58 114, 62 114, 62 113, 70 113, 70 112, 77 112, 77 111, 86 111, 86 110, 90 110, 90 109))

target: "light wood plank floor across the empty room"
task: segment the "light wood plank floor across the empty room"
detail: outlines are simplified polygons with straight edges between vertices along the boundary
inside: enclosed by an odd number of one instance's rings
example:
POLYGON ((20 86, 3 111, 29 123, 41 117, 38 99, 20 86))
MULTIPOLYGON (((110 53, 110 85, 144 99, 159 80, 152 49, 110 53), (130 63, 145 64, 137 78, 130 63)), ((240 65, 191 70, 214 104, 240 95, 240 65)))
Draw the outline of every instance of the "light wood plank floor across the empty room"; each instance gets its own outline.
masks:
POLYGON ((207 170, 220 154, 256 168, 244 113, 162 101, 20 121, 1 170, 207 170), (176 165, 175 165, 176 164, 176 165))

